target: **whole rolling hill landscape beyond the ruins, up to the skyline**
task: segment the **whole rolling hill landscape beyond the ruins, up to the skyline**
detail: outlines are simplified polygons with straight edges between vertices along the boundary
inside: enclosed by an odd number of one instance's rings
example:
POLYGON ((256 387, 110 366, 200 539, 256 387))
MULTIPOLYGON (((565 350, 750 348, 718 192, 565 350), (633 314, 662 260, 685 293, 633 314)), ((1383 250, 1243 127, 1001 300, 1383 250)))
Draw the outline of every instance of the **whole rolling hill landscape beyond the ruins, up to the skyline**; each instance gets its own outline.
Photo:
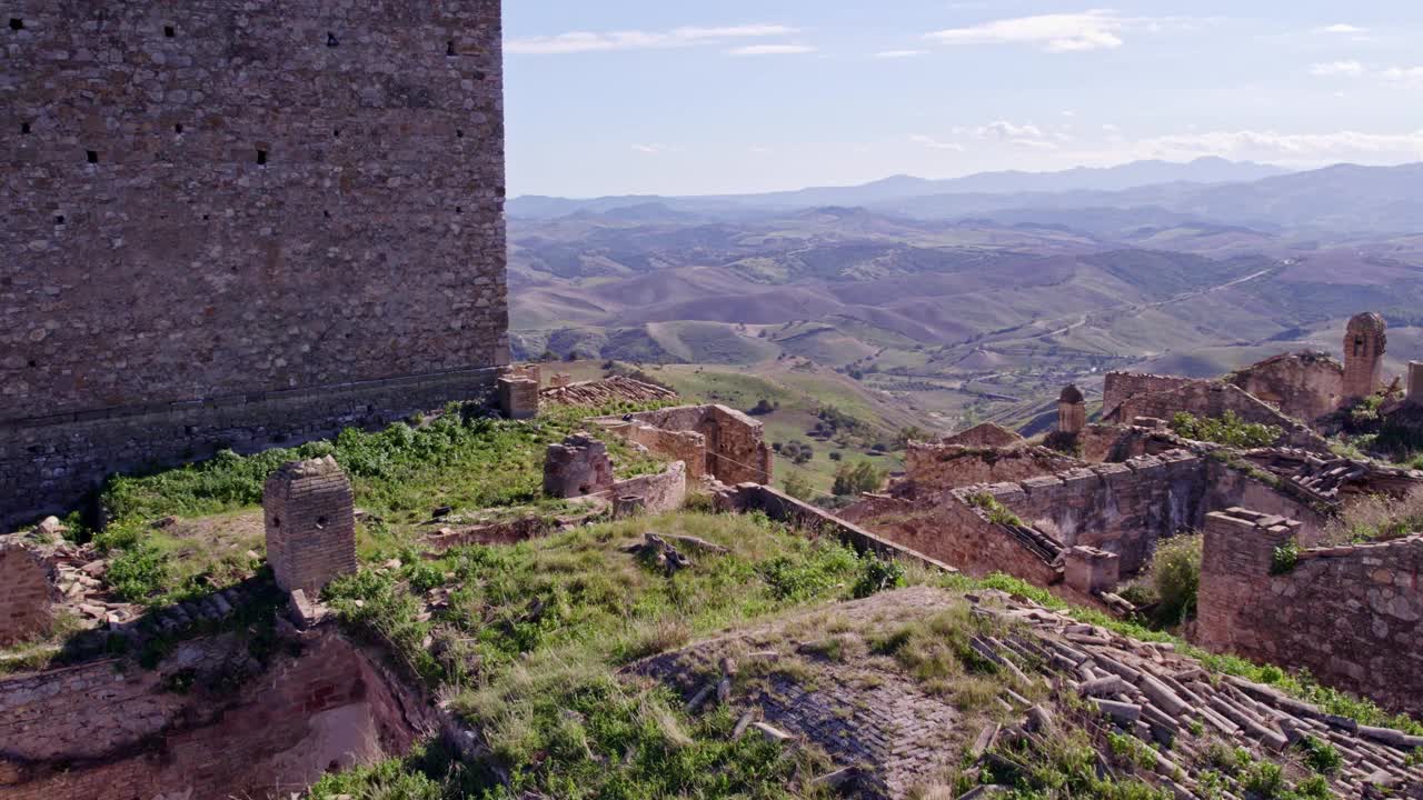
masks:
POLYGON ((827 192, 814 189, 605 198, 554 218, 521 216, 535 206, 517 199, 511 340, 519 359, 694 364, 781 389, 787 374, 835 379, 871 399, 867 421, 936 431, 1036 433, 1063 384, 1091 397, 1110 370, 1205 377, 1288 350, 1338 354, 1360 310, 1389 320, 1397 374, 1423 352, 1423 233, 1397 223, 1405 209, 1423 226, 1423 182, 1405 185, 1417 171, 1029 195, 871 185, 868 208, 781 208, 827 192), (1232 221, 1242 205, 1254 222, 1232 221), (1370 222, 1370 208, 1393 211, 1370 222))

